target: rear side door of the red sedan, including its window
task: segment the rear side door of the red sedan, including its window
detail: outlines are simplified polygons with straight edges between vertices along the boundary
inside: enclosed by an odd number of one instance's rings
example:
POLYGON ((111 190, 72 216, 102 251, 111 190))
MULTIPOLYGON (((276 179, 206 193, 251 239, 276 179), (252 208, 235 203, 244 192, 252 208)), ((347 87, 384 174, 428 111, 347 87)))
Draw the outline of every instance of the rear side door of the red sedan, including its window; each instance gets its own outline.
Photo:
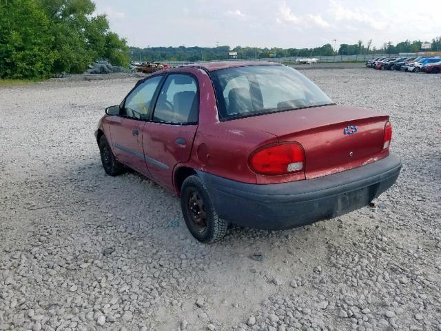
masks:
POLYGON ((198 82, 192 74, 167 75, 151 121, 143 128, 143 148, 152 177, 173 190, 173 168, 189 160, 198 128, 198 82))

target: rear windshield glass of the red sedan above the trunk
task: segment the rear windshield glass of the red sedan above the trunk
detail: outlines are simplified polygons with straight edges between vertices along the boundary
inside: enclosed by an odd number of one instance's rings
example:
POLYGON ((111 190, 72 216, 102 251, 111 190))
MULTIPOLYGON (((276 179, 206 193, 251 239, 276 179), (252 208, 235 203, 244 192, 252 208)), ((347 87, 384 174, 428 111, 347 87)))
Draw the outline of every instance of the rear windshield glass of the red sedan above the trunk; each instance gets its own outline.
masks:
POLYGON ((305 76, 287 66, 245 66, 211 74, 220 119, 334 104, 305 76))

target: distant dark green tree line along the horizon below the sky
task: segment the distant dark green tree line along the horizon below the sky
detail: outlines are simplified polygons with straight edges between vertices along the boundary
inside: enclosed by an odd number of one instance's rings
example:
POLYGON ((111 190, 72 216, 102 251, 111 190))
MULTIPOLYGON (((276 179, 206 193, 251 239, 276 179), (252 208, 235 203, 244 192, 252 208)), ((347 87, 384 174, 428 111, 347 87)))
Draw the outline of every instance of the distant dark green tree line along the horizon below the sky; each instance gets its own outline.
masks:
MULTIPOLYGON (((229 46, 216 47, 149 47, 129 48, 128 54, 132 61, 213 61, 230 59, 229 52, 237 52, 238 59, 266 59, 271 57, 316 57, 331 55, 357 55, 357 54, 398 54, 420 52, 422 41, 402 41, 393 45, 390 41, 382 47, 372 46, 372 41, 366 45, 362 41, 355 44, 340 44, 334 50, 330 43, 316 48, 256 48, 229 46)), ((441 37, 431 41, 429 50, 441 51, 441 37)))

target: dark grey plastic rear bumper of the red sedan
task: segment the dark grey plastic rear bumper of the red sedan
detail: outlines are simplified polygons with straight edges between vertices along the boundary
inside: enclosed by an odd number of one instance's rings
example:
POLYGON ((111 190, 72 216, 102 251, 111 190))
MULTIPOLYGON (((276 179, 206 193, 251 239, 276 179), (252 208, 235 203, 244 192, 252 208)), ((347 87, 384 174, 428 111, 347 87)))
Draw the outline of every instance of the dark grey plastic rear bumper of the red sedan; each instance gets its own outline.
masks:
POLYGON ((219 217, 238 225, 284 230, 369 205, 395 183, 400 158, 390 154, 362 167, 316 179, 247 184, 198 172, 219 217))

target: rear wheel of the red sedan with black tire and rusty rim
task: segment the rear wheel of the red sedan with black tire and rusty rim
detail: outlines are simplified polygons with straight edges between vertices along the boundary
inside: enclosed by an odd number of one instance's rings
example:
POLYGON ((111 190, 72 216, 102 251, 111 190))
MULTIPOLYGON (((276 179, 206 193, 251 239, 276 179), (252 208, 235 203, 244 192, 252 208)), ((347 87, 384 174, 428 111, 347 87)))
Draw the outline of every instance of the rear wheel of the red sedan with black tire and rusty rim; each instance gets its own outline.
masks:
POLYGON ((225 236, 228 222, 218 217, 205 185, 196 174, 182 184, 181 209, 189 232, 201 243, 214 243, 225 236))

